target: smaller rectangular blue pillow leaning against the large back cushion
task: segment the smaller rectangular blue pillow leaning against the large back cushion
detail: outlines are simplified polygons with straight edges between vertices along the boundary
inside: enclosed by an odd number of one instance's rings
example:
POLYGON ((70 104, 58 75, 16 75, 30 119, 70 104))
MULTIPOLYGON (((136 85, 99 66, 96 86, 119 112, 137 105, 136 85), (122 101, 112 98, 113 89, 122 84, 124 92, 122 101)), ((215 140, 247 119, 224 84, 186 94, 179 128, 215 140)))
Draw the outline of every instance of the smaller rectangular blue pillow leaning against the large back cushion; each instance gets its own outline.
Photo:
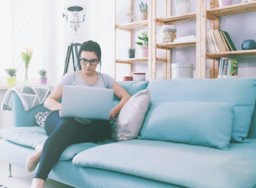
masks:
POLYGON ((232 104, 152 102, 140 138, 228 150, 233 117, 232 104))

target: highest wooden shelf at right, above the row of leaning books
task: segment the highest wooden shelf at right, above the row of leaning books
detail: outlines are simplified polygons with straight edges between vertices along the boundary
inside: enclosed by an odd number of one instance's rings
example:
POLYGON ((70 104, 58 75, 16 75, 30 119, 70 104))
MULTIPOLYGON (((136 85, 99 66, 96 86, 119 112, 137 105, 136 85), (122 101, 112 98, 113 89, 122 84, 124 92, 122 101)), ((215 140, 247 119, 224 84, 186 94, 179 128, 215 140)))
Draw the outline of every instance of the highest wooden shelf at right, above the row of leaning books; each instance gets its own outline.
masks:
POLYGON ((256 11, 256 1, 250 3, 238 3, 221 8, 212 8, 206 10, 207 19, 216 19, 225 15, 233 15, 238 13, 253 12, 256 11))

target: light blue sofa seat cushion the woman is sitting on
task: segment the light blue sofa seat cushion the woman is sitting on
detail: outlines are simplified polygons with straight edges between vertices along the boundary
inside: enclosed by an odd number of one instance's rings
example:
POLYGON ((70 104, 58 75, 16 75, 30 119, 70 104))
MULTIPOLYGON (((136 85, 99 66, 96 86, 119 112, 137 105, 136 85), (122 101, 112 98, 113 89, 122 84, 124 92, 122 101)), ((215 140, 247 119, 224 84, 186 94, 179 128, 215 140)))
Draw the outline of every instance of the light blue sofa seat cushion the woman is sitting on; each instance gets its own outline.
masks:
MULTIPOLYGON (((37 145, 40 145, 45 142, 47 135, 45 130, 42 127, 10 127, 0 130, 0 137, 12 141, 23 146, 29 146, 35 148, 37 145)), ((92 148, 98 145, 103 145, 106 143, 112 143, 113 140, 106 139, 97 143, 79 143, 76 145, 70 145, 67 149, 61 154, 60 161, 68 161, 73 159, 73 157, 88 148, 92 148)))

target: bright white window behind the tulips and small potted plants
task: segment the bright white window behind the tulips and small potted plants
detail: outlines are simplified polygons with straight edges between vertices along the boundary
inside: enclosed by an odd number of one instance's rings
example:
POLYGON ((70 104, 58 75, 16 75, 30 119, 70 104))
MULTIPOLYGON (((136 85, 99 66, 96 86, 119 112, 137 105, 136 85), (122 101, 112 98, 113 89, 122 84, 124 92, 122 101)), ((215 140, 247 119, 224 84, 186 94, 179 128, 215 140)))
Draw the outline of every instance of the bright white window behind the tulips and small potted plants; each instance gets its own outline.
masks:
POLYGON ((33 49, 29 64, 29 77, 38 77, 42 68, 42 0, 0 1, 1 70, 0 77, 6 77, 5 68, 17 68, 17 77, 24 78, 24 62, 20 47, 33 49))

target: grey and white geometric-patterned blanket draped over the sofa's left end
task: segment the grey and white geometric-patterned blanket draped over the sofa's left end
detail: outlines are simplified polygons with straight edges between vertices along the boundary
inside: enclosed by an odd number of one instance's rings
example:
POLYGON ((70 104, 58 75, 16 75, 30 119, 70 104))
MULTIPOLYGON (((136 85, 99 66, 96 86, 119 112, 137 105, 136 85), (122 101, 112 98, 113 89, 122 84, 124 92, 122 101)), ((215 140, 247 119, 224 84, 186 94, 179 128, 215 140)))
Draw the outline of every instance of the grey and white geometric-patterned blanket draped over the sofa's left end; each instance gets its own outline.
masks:
POLYGON ((52 85, 38 85, 38 86, 16 86, 6 91, 3 102, 2 110, 12 111, 12 94, 17 93, 19 96, 24 110, 28 111, 33 107, 43 104, 45 99, 51 94, 55 86, 52 85))

